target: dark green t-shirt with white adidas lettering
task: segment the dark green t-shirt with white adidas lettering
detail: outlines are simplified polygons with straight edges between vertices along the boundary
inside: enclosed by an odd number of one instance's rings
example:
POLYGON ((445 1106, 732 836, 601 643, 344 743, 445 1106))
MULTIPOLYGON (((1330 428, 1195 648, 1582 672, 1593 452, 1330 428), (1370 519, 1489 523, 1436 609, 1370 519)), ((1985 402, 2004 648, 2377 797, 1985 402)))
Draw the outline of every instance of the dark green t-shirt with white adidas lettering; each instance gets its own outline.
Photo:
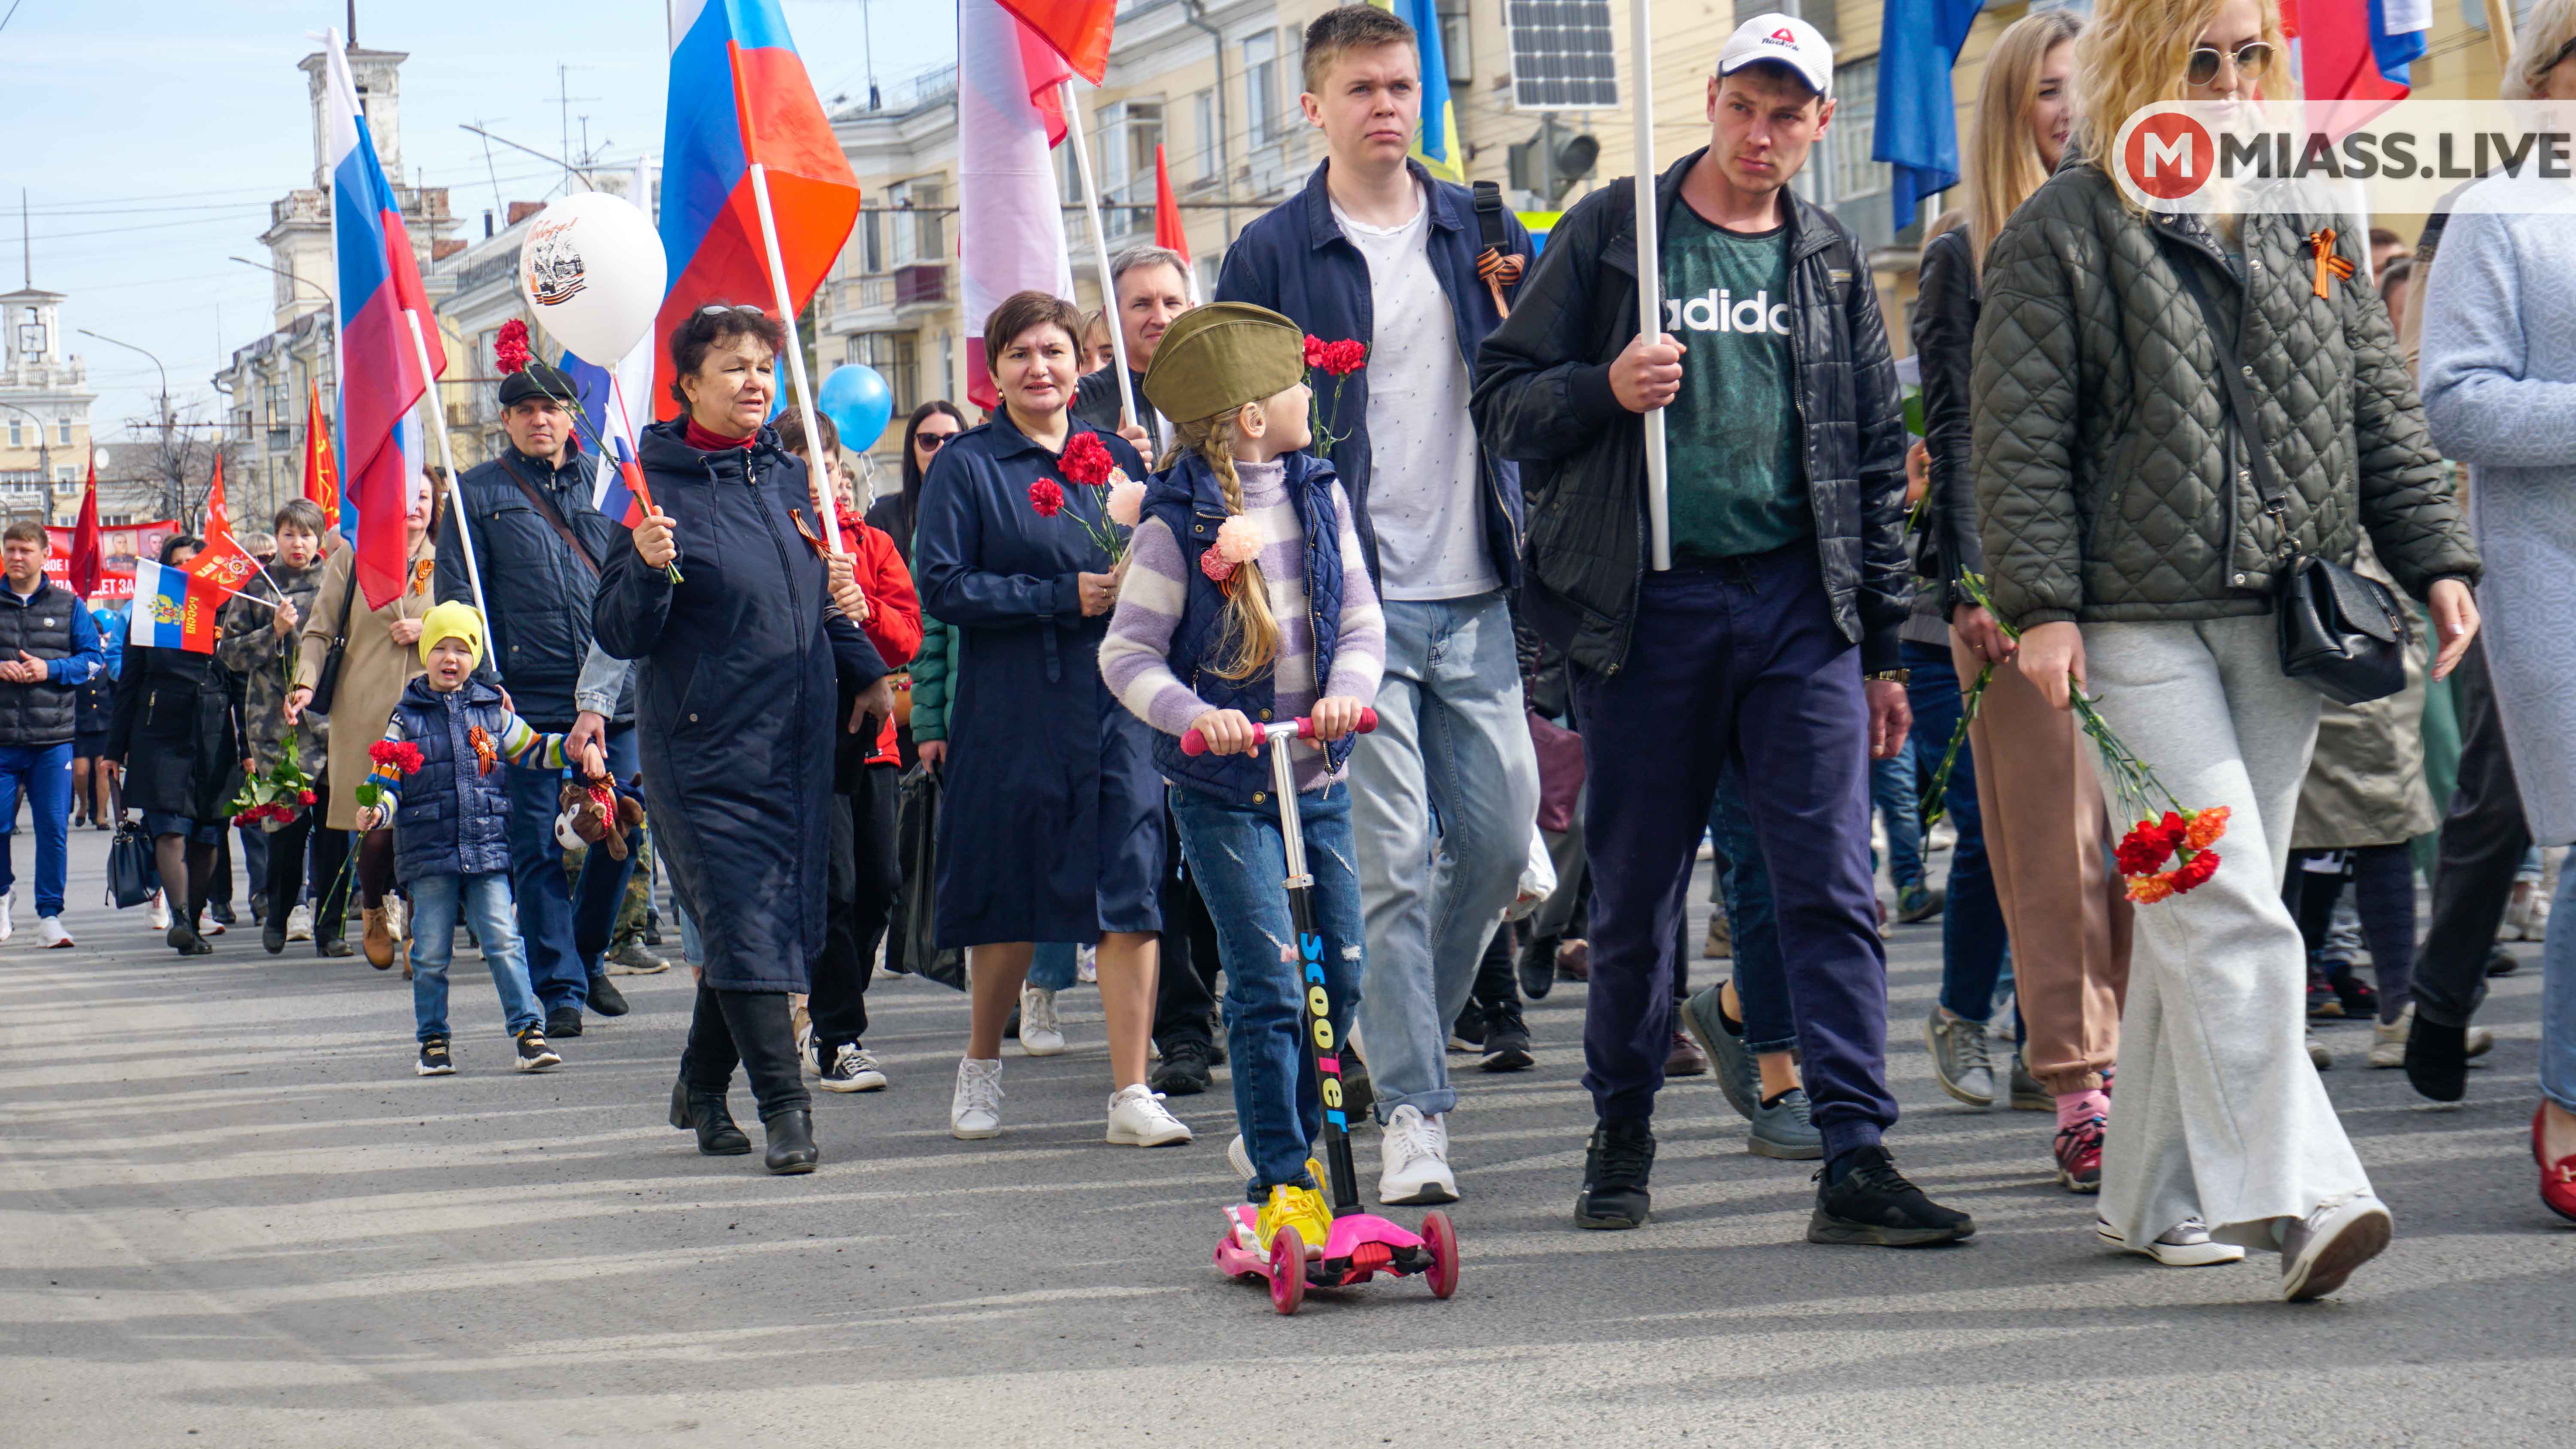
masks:
POLYGON ((1816 533, 1788 314, 1788 226, 1723 232, 1672 208, 1664 332, 1685 347, 1682 391, 1664 409, 1674 558, 1739 558, 1816 533))

